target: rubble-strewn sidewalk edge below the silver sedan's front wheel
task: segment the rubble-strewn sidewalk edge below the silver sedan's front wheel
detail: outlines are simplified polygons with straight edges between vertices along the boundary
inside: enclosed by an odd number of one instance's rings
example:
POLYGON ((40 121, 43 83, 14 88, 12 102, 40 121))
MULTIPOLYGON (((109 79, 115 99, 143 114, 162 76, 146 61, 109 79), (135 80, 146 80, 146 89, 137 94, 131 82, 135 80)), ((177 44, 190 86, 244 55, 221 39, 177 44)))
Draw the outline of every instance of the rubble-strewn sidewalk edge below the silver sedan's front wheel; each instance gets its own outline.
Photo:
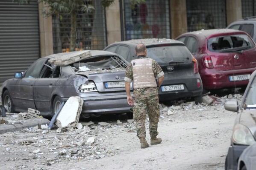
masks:
POLYGON ((6 117, 2 117, 0 115, 0 134, 35 127, 38 124, 49 123, 50 121, 46 118, 28 118, 26 120, 18 120, 18 113, 6 113, 6 117))

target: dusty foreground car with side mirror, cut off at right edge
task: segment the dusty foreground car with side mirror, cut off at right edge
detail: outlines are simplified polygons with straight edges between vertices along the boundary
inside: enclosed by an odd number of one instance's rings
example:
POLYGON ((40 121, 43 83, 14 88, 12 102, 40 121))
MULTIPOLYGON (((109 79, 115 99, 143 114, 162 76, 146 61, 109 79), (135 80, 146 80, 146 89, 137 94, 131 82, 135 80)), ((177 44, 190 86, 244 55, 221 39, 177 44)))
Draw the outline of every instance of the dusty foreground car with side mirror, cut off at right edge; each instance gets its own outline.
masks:
POLYGON ((225 170, 237 170, 241 153, 256 140, 256 71, 250 76, 240 106, 237 99, 229 99, 224 107, 238 112, 225 161, 225 170))

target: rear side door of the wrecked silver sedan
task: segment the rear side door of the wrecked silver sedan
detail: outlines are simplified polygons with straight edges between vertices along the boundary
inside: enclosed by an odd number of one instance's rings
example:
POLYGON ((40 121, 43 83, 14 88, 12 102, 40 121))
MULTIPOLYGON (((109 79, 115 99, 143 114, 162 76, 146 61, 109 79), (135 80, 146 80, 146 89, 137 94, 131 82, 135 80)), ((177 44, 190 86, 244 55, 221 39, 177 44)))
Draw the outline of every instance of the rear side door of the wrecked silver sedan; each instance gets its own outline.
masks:
POLYGON ((60 66, 55 66, 54 68, 52 66, 47 62, 34 84, 35 108, 40 112, 49 112, 51 110, 51 94, 59 80, 60 66))

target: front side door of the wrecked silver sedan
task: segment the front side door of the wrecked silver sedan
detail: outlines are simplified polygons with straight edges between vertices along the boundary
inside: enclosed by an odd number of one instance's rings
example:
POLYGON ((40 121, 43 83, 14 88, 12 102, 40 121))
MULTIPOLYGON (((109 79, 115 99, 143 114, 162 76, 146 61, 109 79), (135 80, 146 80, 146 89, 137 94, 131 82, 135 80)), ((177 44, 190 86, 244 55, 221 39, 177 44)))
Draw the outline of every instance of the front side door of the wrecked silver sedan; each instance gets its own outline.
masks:
POLYGON ((15 86, 15 98, 17 103, 15 105, 24 111, 28 108, 36 109, 33 89, 46 62, 47 58, 38 59, 26 70, 24 77, 17 81, 15 86))

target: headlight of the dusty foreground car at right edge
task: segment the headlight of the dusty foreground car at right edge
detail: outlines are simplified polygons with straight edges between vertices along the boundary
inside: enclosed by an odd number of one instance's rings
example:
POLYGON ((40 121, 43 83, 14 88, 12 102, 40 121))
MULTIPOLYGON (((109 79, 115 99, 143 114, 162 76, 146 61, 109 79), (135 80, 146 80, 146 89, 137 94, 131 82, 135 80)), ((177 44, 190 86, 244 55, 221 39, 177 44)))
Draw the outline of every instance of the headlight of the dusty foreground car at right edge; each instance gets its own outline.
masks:
POLYGON ((250 133, 250 130, 242 124, 235 125, 233 129, 232 141, 235 144, 244 145, 250 145, 255 142, 253 135, 250 133))

